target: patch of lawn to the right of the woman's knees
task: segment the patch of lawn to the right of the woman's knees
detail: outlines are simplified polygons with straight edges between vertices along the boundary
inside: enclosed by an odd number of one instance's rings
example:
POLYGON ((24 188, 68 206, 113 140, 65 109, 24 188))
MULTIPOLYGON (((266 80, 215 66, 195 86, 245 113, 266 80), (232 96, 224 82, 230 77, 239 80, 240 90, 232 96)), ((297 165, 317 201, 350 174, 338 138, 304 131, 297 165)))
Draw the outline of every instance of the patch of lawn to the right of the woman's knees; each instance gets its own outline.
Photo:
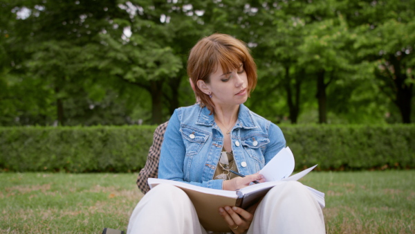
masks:
POLYGON ((311 172, 326 193, 327 233, 415 233, 415 170, 311 172))

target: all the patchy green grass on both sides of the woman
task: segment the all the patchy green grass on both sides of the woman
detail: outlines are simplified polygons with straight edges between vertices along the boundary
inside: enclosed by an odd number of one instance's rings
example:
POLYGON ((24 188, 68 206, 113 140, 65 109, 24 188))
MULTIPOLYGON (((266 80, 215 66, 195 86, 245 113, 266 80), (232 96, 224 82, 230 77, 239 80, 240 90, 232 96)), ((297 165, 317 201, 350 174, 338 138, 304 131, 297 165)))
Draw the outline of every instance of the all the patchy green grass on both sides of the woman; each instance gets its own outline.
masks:
MULTIPOLYGON (((415 233, 415 171, 311 172, 328 233, 415 233)), ((127 230, 136 174, 0 173, 0 233, 127 230)))

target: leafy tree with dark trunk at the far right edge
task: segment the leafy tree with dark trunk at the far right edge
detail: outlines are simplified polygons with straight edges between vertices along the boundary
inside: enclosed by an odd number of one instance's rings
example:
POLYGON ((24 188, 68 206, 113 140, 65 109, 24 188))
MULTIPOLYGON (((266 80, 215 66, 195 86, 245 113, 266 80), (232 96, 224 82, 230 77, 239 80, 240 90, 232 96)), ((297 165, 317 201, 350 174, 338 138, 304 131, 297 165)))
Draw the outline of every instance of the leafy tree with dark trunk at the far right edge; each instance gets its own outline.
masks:
POLYGON ((379 89, 398 107, 403 123, 411 123, 414 96, 414 1, 362 2, 348 16, 361 35, 358 58, 371 62, 379 89))

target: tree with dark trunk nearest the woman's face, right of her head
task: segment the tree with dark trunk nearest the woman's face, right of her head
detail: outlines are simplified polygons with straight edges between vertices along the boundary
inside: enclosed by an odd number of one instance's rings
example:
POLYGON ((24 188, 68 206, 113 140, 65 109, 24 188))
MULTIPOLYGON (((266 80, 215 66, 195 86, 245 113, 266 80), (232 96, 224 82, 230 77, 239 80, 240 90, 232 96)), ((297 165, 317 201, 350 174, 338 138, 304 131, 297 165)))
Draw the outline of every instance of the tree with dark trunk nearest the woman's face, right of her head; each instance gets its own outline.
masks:
MULTIPOLYGON (((297 66, 299 46, 304 40, 304 14, 300 10, 304 7, 302 2, 282 2, 273 4, 262 4, 258 6, 261 19, 256 22, 257 35, 255 39, 255 55, 259 55, 259 69, 268 70, 264 64, 275 64, 273 71, 281 69, 279 74, 275 73, 271 77, 277 76, 277 83, 266 87, 278 90, 282 87, 286 93, 286 105, 288 106, 288 118, 291 123, 297 123, 300 113, 301 89, 306 75, 304 69, 297 66)), ((253 28, 252 28, 253 30, 253 28)), ((269 82, 269 80, 267 80, 269 82)), ((265 85, 265 82, 262 83, 265 85)))

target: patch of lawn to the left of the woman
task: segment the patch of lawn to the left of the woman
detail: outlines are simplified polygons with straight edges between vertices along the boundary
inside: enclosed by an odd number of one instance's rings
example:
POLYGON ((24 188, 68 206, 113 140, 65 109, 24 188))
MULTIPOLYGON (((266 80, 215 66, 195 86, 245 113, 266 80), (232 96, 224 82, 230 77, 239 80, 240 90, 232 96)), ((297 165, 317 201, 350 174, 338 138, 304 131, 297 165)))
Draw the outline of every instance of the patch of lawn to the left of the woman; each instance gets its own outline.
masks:
POLYGON ((0 233, 127 230, 136 174, 0 174, 0 233))

